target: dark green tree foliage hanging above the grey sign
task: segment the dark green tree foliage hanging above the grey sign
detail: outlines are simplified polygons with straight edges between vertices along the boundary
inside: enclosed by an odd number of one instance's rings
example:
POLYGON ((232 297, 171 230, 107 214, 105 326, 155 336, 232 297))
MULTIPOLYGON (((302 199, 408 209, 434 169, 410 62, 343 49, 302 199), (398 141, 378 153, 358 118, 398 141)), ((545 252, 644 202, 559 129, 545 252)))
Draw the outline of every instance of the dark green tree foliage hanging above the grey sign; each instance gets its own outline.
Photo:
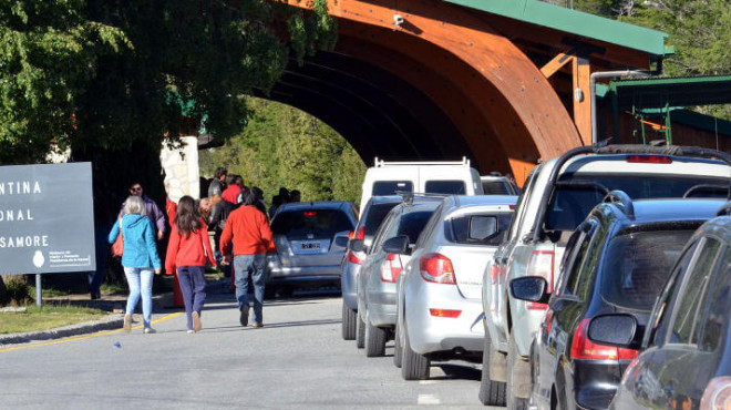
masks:
POLYGON ((41 162, 51 142, 82 153, 175 143, 186 124, 171 92, 227 139, 247 115, 240 95, 267 92, 290 51, 333 45, 326 1, 315 6, 308 16, 270 0, 2 1, 0 163, 41 162))

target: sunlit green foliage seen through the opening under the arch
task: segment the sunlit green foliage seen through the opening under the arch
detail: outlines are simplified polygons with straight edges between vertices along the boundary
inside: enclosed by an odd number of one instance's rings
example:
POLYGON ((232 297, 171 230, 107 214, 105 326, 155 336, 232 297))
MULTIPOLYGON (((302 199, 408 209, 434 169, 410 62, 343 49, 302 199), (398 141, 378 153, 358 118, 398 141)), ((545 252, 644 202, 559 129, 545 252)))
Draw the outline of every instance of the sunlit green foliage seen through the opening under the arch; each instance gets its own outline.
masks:
POLYGON ((366 165, 342 136, 289 105, 247 101, 247 126, 224 146, 202 152, 203 174, 226 165, 262 188, 268 203, 281 186, 299 189, 302 201, 360 199, 366 165))

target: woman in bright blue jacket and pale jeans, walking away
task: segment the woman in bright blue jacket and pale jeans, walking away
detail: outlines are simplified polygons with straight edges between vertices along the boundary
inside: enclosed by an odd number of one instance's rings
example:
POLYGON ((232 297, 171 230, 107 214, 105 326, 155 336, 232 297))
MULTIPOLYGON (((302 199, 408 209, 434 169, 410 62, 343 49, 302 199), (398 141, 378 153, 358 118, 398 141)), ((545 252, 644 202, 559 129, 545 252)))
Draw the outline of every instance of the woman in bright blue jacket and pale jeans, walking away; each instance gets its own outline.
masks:
POLYGON ((145 334, 154 334, 152 321, 152 279, 161 273, 161 260, 155 244, 155 228, 145 214, 145 202, 141 196, 130 195, 124 202, 124 215, 112 226, 107 240, 113 244, 122 232, 122 267, 130 285, 124 331, 132 330, 132 314, 142 297, 142 318, 145 334))

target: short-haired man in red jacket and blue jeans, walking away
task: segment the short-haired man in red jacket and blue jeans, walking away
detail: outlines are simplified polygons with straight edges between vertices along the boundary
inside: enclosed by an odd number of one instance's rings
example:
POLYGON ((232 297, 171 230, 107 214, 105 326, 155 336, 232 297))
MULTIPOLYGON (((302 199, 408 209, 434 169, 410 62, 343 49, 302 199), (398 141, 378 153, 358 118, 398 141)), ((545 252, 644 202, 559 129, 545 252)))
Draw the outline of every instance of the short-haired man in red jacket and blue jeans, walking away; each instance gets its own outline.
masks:
POLYGON ((256 208, 256 195, 251 189, 244 192, 244 203, 231 212, 226 227, 220 235, 220 249, 226 255, 224 263, 230 263, 230 246, 234 245, 234 269, 236 271, 236 300, 241 312, 241 326, 249 320, 249 275, 254 283, 253 327, 264 325, 261 306, 264 305, 264 267, 267 263, 267 249, 272 246, 274 237, 266 215, 256 208))

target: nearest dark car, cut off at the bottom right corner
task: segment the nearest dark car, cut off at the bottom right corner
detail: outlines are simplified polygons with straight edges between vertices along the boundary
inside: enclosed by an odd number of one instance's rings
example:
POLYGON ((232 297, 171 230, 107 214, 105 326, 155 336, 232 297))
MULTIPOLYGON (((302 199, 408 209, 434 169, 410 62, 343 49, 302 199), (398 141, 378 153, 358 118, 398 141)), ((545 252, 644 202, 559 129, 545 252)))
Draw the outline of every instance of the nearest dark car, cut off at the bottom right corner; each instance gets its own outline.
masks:
POLYGON ((647 326, 634 312, 597 316, 591 342, 640 349, 610 409, 728 409, 731 399, 731 204, 686 245, 647 326))

